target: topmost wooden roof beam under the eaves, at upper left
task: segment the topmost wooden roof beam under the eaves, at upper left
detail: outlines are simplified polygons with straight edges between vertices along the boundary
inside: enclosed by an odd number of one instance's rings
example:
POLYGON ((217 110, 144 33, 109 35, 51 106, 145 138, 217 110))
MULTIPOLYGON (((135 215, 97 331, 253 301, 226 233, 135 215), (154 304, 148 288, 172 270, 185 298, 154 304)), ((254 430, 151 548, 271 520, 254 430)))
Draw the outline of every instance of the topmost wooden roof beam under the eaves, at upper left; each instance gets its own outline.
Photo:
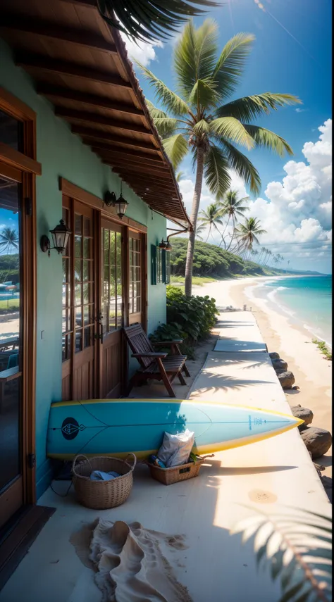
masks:
POLYGON ((18 15, 1 13, 0 29, 19 31, 27 34, 35 34, 39 37, 58 39, 62 42, 71 42, 86 48, 101 50, 109 54, 117 54, 115 44, 107 42, 103 37, 87 30, 71 29, 48 23, 43 20, 20 19, 18 15))

